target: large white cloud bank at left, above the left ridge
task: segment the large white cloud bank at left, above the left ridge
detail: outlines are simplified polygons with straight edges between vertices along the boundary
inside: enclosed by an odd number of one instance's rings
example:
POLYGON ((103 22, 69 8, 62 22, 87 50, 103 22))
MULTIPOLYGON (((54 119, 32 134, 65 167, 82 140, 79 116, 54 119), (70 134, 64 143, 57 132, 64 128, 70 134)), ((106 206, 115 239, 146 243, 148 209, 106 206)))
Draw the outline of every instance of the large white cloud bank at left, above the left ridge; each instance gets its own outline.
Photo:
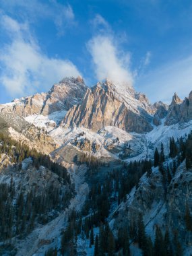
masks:
POLYGON ((80 75, 70 61, 44 55, 27 24, 19 24, 3 15, 1 28, 9 35, 11 42, 0 50, 0 82, 11 96, 48 90, 65 76, 80 75))

